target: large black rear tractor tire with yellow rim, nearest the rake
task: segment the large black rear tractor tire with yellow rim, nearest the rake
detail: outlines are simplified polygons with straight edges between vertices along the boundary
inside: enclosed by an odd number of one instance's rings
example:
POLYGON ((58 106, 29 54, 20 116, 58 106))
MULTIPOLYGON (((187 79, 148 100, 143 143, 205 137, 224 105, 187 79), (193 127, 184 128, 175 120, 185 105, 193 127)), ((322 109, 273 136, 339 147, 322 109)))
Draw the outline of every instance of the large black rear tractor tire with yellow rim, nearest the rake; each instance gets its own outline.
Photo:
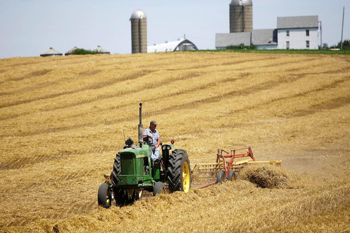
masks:
POLYGON ((191 169, 187 151, 177 149, 169 155, 167 180, 170 193, 175 191, 188 192, 191 188, 191 169))

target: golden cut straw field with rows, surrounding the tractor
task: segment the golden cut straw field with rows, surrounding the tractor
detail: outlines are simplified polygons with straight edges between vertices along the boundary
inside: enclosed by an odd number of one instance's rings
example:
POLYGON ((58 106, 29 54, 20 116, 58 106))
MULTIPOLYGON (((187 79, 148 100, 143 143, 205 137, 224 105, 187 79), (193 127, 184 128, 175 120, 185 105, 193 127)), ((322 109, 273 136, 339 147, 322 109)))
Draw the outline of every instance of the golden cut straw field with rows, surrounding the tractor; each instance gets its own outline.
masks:
POLYGON ((350 232, 350 57, 176 52, 0 60, 0 230, 350 232), (191 167, 251 146, 297 182, 238 179, 97 206, 126 137, 158 122, 191 167))

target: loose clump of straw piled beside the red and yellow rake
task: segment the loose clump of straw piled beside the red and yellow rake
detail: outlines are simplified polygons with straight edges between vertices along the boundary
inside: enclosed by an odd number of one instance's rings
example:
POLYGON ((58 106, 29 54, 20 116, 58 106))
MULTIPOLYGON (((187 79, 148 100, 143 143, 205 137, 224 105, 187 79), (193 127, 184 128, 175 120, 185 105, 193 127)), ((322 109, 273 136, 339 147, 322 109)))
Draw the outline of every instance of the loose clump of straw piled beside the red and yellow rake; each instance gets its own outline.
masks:
POLYGON ((260 188, 291 187, 299 179, 295 173, 274 165, 245 166, 239 173, 242 180, 247 180, 260 188))

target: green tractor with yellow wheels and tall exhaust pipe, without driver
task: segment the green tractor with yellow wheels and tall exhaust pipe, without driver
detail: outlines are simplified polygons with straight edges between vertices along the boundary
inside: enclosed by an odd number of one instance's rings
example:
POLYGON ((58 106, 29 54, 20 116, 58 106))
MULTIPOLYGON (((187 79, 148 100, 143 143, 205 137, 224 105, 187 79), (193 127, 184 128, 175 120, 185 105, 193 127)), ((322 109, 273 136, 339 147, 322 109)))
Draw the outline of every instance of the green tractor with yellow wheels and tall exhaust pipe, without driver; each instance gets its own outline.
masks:
POLYGON ((185 150, 173 150, 174 141, 161 144, 160 159, 151 160, 152 150, 143 140, 142 103, 140 103, 139 145, 133 145, 129 138, 126 146, 116 154, 113 172, 105 175, 105 182, 98 189, 98 205, 109 208, 112 202, 123 206, 142 197, 143 191, 153 192, 153 196, 169 192, 188 192, 191 187, 191 169, 185 150), (171 153, 170 153, 171 151, 171 153))

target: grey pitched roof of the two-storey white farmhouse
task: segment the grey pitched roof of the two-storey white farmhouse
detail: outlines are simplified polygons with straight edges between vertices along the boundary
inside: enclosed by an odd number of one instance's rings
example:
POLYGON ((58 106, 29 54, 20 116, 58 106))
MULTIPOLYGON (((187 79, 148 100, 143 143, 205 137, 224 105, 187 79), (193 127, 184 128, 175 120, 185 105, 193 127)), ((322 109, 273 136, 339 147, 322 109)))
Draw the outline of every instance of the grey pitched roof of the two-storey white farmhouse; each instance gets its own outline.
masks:
POLYGON ((277 29, 318 28, 318 15, 277 17, 277 29))

